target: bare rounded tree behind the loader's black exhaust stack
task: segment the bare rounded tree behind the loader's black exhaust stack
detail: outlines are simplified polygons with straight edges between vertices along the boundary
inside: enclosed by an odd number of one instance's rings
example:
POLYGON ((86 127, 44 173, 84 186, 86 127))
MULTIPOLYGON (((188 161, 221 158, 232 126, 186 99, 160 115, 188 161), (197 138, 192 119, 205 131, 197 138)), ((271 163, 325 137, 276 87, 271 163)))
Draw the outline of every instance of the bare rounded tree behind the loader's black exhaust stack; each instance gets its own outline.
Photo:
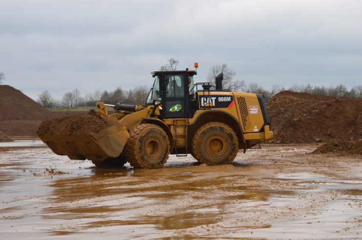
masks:
POLYGON ((246 84, 244 80, 234 80, 236 73, 234 70, 229 68, 226 63, 217 64, 210 67, 209 72, 207 74, 207 81, 211 82, 213 87, 216 86, 215 78, 220 73, 223 73, 223 89, 230 91, 239 91, 243 89, 246 84))

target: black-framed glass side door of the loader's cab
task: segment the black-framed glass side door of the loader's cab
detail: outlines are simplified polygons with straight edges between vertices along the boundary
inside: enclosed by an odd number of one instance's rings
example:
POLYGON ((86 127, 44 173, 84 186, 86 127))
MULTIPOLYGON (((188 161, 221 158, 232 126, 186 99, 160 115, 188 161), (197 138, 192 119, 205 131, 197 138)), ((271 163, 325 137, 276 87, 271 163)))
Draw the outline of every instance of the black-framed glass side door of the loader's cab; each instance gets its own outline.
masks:
POLYGON ((186 75, 167 73, 163 75, 163 113, 164 118, 185 118, 187 114, 185 86, 186 75))

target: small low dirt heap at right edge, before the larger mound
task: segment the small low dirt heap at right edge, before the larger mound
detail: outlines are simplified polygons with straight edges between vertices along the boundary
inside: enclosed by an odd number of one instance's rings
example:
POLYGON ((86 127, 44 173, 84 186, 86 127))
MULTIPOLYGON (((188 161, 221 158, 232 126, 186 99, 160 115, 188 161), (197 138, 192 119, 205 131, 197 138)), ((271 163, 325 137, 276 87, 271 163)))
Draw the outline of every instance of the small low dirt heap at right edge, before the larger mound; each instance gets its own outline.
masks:
POLYGON ((362 141, 344 141, 335 140, 329 141, 312 153, 344 153, 344 154, 362 154, 362 141))

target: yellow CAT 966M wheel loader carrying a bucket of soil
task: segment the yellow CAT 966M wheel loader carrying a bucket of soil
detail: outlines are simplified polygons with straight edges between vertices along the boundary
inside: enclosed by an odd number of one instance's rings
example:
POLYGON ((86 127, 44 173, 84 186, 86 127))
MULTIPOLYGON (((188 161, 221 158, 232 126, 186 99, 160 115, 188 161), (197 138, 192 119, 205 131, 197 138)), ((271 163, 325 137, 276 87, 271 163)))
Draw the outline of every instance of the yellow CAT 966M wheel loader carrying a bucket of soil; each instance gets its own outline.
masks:
POLYGON ((97 102, 109 125, 99 133, 39 136, 58 155, 91 160, 96 166, 160 168, 170 154, 191 154, 200 163, 231 163, 238 150, 269 140, 270 120, 262 95, 194 83, 195 70, 152 72, 153 86, 144 105, 97 102), (211 90, 213 88, 213 90, 211 90), (108 115, 107 107, 115 113, 108 115))

